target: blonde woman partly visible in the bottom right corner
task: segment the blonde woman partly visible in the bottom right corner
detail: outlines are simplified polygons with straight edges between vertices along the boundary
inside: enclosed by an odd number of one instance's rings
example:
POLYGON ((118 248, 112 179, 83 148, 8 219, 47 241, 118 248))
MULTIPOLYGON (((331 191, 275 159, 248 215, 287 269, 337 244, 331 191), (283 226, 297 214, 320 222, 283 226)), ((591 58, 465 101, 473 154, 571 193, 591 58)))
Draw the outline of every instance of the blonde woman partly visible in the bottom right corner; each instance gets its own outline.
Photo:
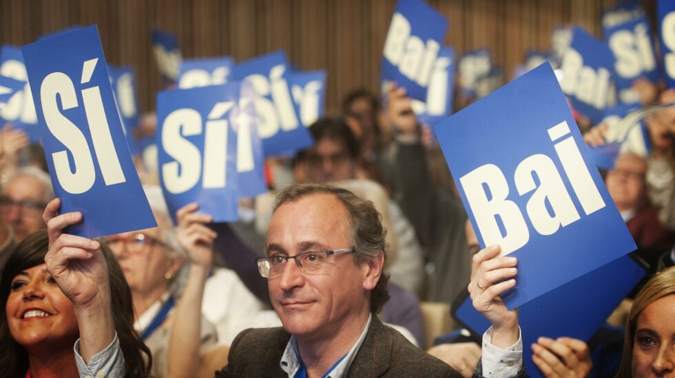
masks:
POLYGON ((635 298, 626 320, 617 378, 675 375, 675 267, 660 271, 635 298))

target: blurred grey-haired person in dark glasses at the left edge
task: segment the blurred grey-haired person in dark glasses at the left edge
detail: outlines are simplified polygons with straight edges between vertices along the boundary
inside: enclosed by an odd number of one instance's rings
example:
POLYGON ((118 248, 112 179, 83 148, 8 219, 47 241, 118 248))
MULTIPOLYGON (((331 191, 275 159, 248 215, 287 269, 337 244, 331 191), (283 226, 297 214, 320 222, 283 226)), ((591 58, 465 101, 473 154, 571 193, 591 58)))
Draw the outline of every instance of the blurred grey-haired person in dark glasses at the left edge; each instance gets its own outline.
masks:
POLYGON ((0 190, 0 271, 16 243, 47 227, 42 212, 52 199, 49 175, 34 167, 17 170, 0 190))

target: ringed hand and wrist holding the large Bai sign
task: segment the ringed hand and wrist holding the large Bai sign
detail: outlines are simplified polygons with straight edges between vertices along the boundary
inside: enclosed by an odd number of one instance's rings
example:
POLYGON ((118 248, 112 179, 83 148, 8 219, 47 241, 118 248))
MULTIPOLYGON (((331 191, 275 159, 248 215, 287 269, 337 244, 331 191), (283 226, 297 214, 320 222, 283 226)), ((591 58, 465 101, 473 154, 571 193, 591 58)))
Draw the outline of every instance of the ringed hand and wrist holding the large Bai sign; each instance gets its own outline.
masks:
POLYGON ((516 285, 515 257, 499 255, 499 245, 490 245, 473 255, 468 291, 473 307, 492 324, 492 344, 506 348, 519 339, 518 312, 506 308, 501 294, 516 285))

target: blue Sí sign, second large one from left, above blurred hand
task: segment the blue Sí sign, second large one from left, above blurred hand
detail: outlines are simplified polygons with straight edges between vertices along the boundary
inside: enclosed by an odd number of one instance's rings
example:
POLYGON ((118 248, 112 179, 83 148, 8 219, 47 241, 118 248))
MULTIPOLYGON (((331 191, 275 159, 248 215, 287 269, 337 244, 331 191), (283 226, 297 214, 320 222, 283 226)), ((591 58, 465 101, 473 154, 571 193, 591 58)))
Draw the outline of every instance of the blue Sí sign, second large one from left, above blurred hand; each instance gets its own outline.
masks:
POLYGON ((160 184, 169 214, 191 202, 214 222, 238 219, 237 134, 231 122, 240 84, 174 89, 157 95, 160 184))

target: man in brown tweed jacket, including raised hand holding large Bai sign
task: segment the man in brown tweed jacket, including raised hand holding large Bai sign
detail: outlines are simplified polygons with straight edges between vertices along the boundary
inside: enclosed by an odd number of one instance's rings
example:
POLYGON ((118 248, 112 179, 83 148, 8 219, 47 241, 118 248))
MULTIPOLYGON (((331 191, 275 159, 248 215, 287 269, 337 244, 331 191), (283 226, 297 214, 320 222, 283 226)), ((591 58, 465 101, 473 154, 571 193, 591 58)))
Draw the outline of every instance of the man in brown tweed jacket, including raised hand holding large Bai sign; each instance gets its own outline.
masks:
MULTIPOLYGON (((374 316, 388 300, 388 277, 371 203, 330 186, 291 186, 278 196, 266 252, 258 267, 283 326, 240 333, 217 377, 457 376, 374 316)), ((476 375, 524 376, 517 312, 499 298, 515 285, 516 260, 498 253, 477 254, 469 285, 493 325, 476 375)))

